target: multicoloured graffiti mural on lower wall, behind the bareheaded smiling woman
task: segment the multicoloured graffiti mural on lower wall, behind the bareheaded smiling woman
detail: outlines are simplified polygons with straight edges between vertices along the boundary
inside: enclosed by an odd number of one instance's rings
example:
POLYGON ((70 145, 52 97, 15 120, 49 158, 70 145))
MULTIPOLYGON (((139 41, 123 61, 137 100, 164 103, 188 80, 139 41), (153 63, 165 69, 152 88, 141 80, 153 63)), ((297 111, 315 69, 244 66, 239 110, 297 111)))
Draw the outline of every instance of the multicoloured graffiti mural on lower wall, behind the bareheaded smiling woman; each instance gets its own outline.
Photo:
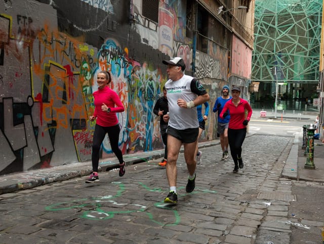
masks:
MULTIPOLYGON (((111 72, 111 88, 126 108, 118 114, 123 153, 163 147, 152 113, 165 79, 158 69, 128 58, 115 39, 97 50, 59 32, 55 21, 44 18, 36 26, 33 13, 12 11, 0 15, 0 174, 91 158, 94 123, 88 117, 99 70, 111 72)), ((108 139, 102 147, 111 154, 108 139)))

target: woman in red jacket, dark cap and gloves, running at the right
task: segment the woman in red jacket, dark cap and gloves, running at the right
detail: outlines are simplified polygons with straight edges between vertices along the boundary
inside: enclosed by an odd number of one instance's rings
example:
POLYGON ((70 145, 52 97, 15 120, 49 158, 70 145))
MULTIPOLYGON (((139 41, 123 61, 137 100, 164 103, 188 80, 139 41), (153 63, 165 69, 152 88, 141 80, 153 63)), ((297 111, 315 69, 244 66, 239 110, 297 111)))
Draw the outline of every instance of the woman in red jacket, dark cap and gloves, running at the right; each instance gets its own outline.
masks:
POLYGON ((247 100, 239 97, 241 93, 239 87, 233 87, 231 91, 232 99, 225 103, 220 116, 224 118, 228 114, 231 115, 228 124, 228 144, 234 161, 233 172, 237 173, 238 168, 242 169, 244 167, 242 144, 247 134, 247 125, 252 115, 252 108, 247 100), (246 110, 248 111, 247 115, 246 110))

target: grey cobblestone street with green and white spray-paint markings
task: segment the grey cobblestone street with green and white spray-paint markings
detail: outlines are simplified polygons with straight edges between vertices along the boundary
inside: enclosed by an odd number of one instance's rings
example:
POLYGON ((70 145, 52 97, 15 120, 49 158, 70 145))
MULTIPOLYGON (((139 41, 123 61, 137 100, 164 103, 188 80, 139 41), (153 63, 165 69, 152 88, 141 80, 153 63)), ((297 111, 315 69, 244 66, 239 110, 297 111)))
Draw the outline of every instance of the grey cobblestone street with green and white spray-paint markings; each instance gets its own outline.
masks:
POLYGON ((0 242, 290 243, 292 185, 280 174, 292 141, 247 137, 245 168, 237 174, 231 157, 220 160, 220 145, 200 149, 192 193, 184 189, 187 170, 181 153, 177 206, 163 203, 169 186, 158 160, 128 166, 121 178, 117 171, 101 172, 94 184, 79 177, 3 194, 0 242), (262 197, 267 195, 274 197, 262 197))

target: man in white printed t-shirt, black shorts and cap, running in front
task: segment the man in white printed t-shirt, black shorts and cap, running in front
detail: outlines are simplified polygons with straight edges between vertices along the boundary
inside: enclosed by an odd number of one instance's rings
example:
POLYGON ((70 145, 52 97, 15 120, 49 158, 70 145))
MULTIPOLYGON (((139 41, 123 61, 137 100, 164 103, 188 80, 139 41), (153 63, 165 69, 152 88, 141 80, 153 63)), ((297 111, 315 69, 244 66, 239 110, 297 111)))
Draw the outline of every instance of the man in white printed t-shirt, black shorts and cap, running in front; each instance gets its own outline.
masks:
POLYGON ((189 172, 186 192, 192 192, 195 187, 195 148, 199 132, 195 106, 207 102, 209 95, 197 79, 184 74, 186 65, 182 58, 164 60, 163 63, 168 65, 169 80, 165 88, 170 112, 163 117, 169 123, 167 177, 170 185, 170 192, 164 201, 176 204, 178 201, 177 159, 182 144, 189 172))

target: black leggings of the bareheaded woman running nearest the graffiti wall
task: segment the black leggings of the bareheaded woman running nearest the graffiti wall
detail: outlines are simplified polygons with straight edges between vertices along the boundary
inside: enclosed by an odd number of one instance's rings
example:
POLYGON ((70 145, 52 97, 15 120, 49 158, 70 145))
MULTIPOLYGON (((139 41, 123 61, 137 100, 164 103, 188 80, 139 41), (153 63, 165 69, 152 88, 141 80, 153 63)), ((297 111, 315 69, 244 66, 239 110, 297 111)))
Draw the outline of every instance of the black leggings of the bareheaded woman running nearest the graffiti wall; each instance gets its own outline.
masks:
POLYGON ((118 158, 119 164, 123 164, 124 162, 123 153, 118 147, 119 132, 120 132, 120 128, 118 124, 109 127, 102 127, 96 124, 95 132, 93 134, 92 155, 91 155, 92 170, 94 172, 98 172, 100 146, 103 139, 105 138, 106 133, 108 133, 111 150, 118 158))

